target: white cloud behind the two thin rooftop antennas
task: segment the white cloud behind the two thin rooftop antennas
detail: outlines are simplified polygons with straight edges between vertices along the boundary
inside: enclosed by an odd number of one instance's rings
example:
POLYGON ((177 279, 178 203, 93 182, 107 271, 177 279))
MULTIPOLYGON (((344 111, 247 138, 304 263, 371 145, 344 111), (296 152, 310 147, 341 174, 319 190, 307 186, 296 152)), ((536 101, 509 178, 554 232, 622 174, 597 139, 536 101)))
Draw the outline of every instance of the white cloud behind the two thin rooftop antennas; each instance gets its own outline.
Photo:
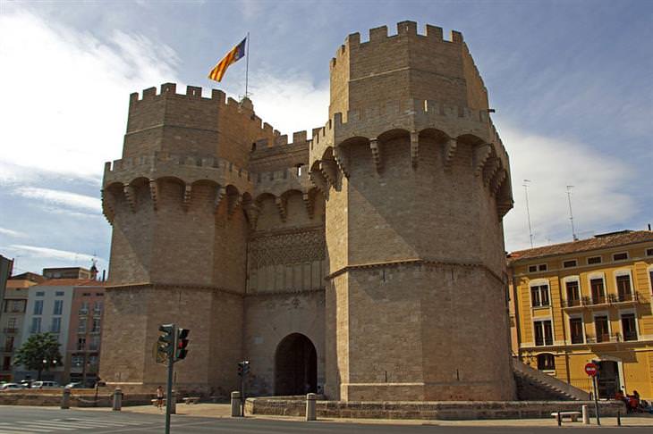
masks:
POLYGON ((632 190, 628 182, 634 174, 615 156, 599 154, 575 140, 532 135, 505 122, 500 132, 511 157, 515 203, 505 217, 508 250, 530 247, 523 179, 530 179, 535 246, 572 240, 566 186, 573 186, 573 219, 580 238, 637 213, 634 199, 626 193, 632 190))

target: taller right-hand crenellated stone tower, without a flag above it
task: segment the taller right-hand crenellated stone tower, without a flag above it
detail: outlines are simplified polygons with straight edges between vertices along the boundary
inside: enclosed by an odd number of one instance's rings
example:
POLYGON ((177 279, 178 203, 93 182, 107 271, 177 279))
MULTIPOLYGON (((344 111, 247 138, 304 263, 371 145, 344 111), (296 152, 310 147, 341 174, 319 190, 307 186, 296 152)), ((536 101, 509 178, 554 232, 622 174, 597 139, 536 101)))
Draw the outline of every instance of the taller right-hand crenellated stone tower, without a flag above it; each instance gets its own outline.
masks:
POLYGON ((510 399, 508 157, 462 35, 397 32, 346 39, 310 149, 326 197, 326 393, 510 399))

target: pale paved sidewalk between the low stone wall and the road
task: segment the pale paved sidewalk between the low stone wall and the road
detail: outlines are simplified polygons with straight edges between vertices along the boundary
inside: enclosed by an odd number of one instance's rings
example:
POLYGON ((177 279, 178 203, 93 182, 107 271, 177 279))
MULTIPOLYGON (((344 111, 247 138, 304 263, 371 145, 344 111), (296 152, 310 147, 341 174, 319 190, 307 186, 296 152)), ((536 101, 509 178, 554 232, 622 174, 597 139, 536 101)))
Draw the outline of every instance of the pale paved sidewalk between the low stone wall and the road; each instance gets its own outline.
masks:
MULTIPOLYGON (((89 411, 107 411, 106 408, 89 408, 89 411)), ((109 410, 110 411, 110 410, 109 410)), ((157 409, 154 405, 138 405, 123 407, 124 413, 145 413, 145 414, 164 414, 165 411, 157 409)), ((194 404, 185 405, 177 404, 177 414, 185 416, 228 418, 231 417, 231 405, 229 404, 194 404)), ((263 414, 248 415, 248 418, 262 419, 269 421, 303 421, 303 417, 294 416, 268 416, 263 414)), ((341 419, 341 418, 318 418, 319 421, 337 422, 337 423, 365 423, 365 424, 386 424, 386 425, 433 425, 433 426, 469 426, 469 427, 555 427, 557 422, 551 419, 488 419, 478 421, 424 421, 424 420, 407 420, 407 419, 341 419)), ((564 427, 582 428, 588 427, 578 422, 563 422, 564 427)), ((592 427, 596 427, 596 421, 591 419, 592 427)), ((602 427, 615 427, 615 417, 601 418, 602 427)), ((640 414, 637 416, 623 416, 623 427, 651 427, 653 428, 653 414, 640 414)))

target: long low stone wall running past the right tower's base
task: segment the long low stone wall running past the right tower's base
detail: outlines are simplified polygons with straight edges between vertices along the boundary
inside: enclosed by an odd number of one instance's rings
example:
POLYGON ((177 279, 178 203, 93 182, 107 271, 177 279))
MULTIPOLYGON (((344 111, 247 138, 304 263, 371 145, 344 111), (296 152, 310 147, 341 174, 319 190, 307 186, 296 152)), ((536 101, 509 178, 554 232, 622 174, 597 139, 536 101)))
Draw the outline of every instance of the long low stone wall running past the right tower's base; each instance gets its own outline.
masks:
MULTIPOLYGON (((601 401, 599 412, 603 416, 626 413, 621 402, 601 401)), ((594 415, 593 401, 490 401, 490 402, 344 402, 318 401, 318 417, 356 419, 439 419, 463 421, 476 419, 537 419, 551 418, 557 411, 581 411, 589 406, 594 415)), ((277 416, 304 416, 306 401, 272 397, 248 398, 245 411, 250 414, 277 416)))

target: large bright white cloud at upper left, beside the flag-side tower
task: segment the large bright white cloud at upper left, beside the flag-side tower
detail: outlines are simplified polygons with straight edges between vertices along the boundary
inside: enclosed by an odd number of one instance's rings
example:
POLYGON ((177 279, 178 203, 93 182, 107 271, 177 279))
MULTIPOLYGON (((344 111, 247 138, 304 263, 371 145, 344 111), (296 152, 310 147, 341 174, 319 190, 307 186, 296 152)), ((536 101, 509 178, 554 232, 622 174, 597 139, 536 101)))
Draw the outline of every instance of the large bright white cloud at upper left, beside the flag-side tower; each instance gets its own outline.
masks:
POLYGON ((176 59, 139 35, 103 42, 20 9, 1 14, 0 140, 12 152, 0 179, 20 179, 15 166, 100 178, 121 153, 129 94, 174 80, 176 59))

